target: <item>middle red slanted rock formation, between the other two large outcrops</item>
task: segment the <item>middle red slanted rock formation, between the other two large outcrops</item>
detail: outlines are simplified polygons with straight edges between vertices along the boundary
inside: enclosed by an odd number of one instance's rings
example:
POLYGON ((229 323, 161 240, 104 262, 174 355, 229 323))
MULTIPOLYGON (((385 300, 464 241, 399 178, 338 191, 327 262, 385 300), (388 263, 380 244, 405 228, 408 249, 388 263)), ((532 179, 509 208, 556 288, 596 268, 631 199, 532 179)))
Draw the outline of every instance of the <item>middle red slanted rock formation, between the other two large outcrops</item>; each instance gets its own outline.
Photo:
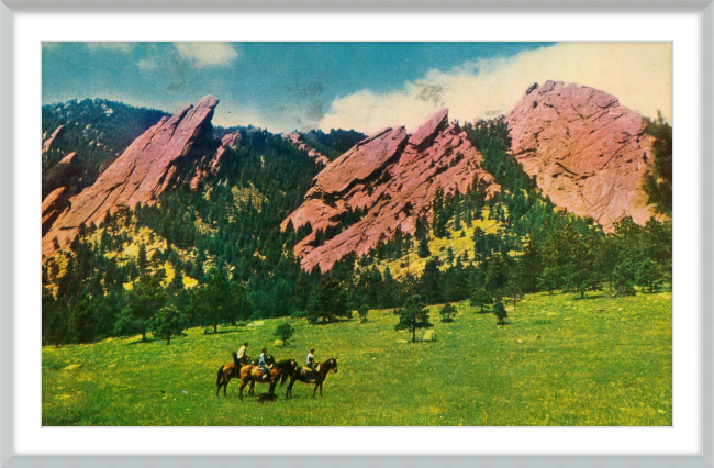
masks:
POLYGON ((466 192, 475 181, 487 197, 500 190, 481 168, 482 156, 466 133, 448 122, 444 109, 413 135, 404 127, 384 129, 327 165, 313 180, 304 203, 282 223, 294 229, 310 222, 313 232, 295 245, 306 270, 330 270, 349 253, 365 255, 398 230, 414 233, 416 220, 431 220, 437 190, 466 192), (339 223, 349 211, 364 216, 335 237, 315 246, 315 231, 339 223))

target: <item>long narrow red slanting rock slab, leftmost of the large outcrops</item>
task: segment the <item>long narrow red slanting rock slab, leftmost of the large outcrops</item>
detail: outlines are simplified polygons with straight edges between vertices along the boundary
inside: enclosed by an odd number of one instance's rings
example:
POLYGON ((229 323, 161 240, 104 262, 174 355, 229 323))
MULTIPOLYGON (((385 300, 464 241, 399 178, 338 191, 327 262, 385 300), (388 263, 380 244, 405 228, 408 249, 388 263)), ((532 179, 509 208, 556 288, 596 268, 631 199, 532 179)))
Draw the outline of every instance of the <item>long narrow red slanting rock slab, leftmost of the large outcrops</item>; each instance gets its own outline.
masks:
POLYGON ((219 100, 207 96, 196 107, 189 104, 136 138, 97 179, 93 186, 69 200, 64 212, 43 237, 42 252, 54 252, 53 239, 67 246, 81 223, 99 223, 108 211, 120 205, 154 203, 169 186, 188 177, 200 152, 214 152, 211 119, 219 100), (207 149, 209 147, 209 149, 207 149))

